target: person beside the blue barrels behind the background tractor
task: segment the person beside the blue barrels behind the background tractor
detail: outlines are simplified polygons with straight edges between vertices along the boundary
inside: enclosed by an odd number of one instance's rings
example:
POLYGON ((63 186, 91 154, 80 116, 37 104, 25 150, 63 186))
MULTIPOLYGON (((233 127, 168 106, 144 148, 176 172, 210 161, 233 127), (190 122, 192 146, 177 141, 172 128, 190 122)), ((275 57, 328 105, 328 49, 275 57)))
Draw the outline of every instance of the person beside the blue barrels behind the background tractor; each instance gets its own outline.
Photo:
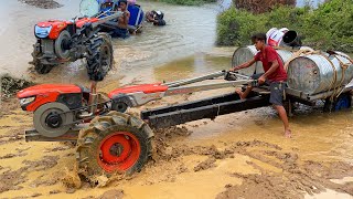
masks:
POLYGON ((129 38, 128 23, 130 19, 130 12, 127 10, 127 0, 119 1, 119 11, 122 12, 122 15, 118 18, 117 29, 114 30, 113 38, 129 38))

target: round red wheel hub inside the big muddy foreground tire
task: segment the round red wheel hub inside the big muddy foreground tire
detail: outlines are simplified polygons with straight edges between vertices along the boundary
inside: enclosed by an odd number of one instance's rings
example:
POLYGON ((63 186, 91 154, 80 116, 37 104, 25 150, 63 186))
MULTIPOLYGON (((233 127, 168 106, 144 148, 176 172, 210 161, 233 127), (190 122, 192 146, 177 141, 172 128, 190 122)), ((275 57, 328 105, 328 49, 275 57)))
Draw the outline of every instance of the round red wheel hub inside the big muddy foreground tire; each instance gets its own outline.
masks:
POLYGON ((141 147, 135 135, 117 132, 101 140, 98 164, 107 172, 125 171, 139 159, 141 147))

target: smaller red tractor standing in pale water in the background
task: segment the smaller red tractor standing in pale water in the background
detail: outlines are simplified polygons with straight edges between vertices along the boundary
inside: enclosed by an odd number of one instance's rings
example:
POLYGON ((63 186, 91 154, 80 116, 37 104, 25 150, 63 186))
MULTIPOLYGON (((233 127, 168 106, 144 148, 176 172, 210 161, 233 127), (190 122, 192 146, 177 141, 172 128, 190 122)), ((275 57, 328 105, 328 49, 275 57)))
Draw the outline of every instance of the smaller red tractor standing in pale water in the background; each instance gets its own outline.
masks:
POLYGON ((83 0, 81 13, 84 17, 35 24, 36 43, 33 45, 31 63, 38 73, 45 74, 55 65, 85 57, 89 78, 104 78, 113 66, 113 45, 110 35, 99 32, 100 25, 117 19, 121 12, 114 11, 113 8, 99 11, 101 6, 104 4, 96 0, 83 0))

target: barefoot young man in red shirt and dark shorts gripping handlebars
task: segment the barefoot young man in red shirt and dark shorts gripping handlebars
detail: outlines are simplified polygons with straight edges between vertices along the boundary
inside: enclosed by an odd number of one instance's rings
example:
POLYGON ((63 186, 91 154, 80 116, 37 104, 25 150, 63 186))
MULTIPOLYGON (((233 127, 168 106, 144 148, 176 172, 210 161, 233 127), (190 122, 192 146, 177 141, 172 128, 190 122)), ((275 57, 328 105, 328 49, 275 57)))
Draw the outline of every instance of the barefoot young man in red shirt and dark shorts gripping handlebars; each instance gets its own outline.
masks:
MULTIPOLYGON (((259 51, 252 60, 240 65, 237 65, 229 71, 237 71, 240 69, 249 67, 257 61, 263 62, 263 67, 265 73, 254 74, 252 78, 258 80, 259 84, 267 83, 270 87, 269 102, 274 105, 275 109, 278 112, 280 119, 285 126, 285 136, 291 137, 291 130, 289 129, 289 123, 286 109, 282 105, 284 92, 286 88, 287 73, 284 69, 284 64, 280 61, 279 55, 276 50, 269 45, 266 45, 266 34, 257 33, 252 36, 252 42, 254 43, 257 51, 259 51)), ((240 98, 246 98, 250 93, 253 86, 249 84, 245 92, 236 91, 240 98)))

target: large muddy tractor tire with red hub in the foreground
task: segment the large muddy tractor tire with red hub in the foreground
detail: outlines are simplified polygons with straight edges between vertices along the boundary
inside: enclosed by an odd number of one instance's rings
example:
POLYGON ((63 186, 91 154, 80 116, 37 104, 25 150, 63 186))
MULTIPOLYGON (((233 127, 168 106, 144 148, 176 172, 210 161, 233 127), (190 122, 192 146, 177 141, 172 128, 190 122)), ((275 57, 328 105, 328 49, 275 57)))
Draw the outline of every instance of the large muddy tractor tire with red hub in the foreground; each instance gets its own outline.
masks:
POLYGON ((78 175, 101 186, 101 176, 115 179, 140 171, 152 153, 151 128, 140 118, 110 112, 79 132, 78 175))

